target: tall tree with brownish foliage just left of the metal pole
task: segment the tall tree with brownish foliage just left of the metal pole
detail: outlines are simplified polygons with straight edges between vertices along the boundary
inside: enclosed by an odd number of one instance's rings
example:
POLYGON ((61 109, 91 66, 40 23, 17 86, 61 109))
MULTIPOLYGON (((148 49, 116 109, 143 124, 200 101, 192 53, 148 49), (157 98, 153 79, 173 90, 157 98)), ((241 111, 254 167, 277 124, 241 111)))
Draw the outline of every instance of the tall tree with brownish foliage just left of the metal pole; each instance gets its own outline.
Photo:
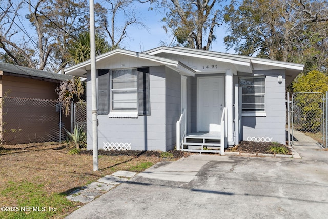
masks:
POLYGON ((86 0, 38 0, 27 18, 36 30, 39 69, 60 71, 69 61, 68 44, 89 23, 86 0), (49 60, 50 58, 50 60, 49 60))

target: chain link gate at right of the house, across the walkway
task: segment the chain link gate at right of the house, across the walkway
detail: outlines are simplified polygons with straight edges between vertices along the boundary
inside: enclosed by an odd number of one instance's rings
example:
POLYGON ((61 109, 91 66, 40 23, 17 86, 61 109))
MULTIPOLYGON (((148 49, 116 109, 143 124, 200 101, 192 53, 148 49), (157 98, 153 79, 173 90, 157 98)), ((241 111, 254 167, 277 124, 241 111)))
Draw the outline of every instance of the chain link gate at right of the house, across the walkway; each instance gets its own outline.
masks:
POLYGON ((293 146, 325 145, 324 105, 323 93, 293 93, 291 110, 293 146))

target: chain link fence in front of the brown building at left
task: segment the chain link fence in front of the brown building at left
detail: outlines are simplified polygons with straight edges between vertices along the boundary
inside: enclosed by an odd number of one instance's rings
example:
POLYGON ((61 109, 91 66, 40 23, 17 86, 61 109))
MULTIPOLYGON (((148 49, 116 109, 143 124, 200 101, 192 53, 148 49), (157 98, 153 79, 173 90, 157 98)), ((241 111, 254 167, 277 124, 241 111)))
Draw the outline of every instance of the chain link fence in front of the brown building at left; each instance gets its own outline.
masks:
POLYGON ((0 104, 4 144, 61 142, 66 138, 64 128, 70 130, 71 118, 62 115, 59 101, 3 97, 0 104))

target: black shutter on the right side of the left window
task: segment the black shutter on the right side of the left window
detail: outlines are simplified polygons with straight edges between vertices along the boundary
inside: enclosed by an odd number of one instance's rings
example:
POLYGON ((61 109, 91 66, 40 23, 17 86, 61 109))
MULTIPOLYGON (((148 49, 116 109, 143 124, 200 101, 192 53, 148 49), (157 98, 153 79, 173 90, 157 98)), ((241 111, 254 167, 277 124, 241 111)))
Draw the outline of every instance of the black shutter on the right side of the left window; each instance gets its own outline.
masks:
POLYGON ((150 115, 149 68, 137 68, 138 115, 150 115))

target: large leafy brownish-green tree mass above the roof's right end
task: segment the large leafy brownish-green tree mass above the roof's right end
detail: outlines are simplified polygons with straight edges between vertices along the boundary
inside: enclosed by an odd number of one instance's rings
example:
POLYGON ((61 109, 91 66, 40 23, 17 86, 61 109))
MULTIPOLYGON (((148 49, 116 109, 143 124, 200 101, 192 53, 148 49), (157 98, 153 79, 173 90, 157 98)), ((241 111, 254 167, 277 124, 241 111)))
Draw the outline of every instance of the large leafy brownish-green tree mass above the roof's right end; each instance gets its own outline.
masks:
POLYGON ((224 41, 243 55, 305 63, 320 69, 327 61, 327 1, 243 0, 227 6, 224 41))

